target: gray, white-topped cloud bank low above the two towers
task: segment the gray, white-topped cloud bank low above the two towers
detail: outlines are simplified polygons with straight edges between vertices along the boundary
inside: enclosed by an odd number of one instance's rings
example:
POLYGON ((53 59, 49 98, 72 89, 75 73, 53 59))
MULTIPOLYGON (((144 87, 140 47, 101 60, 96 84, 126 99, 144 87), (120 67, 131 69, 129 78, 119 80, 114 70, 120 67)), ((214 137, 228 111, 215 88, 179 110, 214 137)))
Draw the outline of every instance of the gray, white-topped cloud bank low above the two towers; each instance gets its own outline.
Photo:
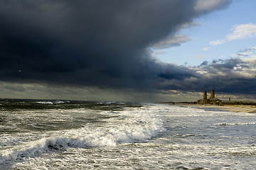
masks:
POLYGON ((203 62, 198 67, 190 68, 197 72, 197 77, 181 80, 165 81, 166 89, 209 91, 255 94, 256 93, 256 59, 230 58, 215 60, 211 63, 203 62))

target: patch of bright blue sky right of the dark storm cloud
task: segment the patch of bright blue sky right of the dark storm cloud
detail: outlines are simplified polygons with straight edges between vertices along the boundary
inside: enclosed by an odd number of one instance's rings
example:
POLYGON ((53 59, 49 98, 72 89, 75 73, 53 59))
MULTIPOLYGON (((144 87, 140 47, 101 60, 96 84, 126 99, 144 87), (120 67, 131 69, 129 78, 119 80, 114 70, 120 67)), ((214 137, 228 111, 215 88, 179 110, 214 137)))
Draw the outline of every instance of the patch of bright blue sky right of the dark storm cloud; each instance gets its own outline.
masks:
POLYGON ((176 47, 156 50, 156 57, 162 62, 187 66, 239 57, 248 48, 255 47, 254 6, 256 1, 253 0, 235 0, 224 10, 194 19, 196 26, 178 33, 187 36, 187 41, 176 47))

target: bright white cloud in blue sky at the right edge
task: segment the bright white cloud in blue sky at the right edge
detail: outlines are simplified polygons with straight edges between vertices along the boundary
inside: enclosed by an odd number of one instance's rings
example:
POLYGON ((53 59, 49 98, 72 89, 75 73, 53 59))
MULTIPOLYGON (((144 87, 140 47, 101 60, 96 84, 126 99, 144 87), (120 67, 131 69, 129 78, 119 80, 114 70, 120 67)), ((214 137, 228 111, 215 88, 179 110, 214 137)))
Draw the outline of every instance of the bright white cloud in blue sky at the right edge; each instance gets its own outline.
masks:
POLYGON ((234 26, 233 33, 226 36, 226 40, 240 40, 244 38, 256 37, 256 25, 253 23, 234 26))

